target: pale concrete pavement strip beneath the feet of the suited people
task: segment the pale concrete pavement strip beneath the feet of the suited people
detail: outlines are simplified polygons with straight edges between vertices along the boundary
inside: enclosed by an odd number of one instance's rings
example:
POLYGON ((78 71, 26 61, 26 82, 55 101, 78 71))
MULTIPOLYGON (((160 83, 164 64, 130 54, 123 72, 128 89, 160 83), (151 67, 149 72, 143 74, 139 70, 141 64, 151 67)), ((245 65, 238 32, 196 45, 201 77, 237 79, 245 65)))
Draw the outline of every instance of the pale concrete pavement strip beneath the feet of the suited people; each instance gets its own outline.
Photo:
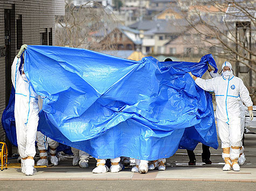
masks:
MULTIPOLYGON (((205 165, 206 166, 206 165, 205 165)), ((33 176, 26 176, 20 168, 8 168, 0 172, 0 180, 193 180, 256 182, 256 168, 243 168, 240 172, 222 171, 221 167, 170 167, 165 171, 149 171, 147 174, 130 172, 125 168, 119 173, 93 174, 93 168, 46 167, 37 168, 33 176)))

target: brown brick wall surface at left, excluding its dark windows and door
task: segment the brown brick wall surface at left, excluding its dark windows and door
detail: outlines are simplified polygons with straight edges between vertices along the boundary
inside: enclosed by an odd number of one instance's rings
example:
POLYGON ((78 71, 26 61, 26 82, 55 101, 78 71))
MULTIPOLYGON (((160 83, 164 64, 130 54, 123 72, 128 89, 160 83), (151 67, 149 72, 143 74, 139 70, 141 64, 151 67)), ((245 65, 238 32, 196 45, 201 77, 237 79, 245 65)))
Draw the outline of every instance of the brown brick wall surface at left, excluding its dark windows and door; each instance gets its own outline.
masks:
MULTIPOLYGON (((47 30, 47 36, 49 32, 52 31, 52 44, 54 45, 55 16, 64 15, 64 8, 64 0, 0 0, 0 47, 5 47, 4 10, 11 10, 11 63, 20 48, 17 47, 16 42, 17 19, 22 18, 22 44, 40 45, 40 33, 47 30)), ((49 42, 47 42, 47 44, 49 45, 49 42)), ((9 91, 8 84, 10 81, 10 75, 6 73, 9 71, 10 65, 6 65, 5 56, 0 57, 0 117, 2 117, 6 102, 8 102, 9 99, 8 93, 6 95, 6 91, 9 91)), ((2 124, 0 126, 0 141, 1 140, 4 140, 2 124)))

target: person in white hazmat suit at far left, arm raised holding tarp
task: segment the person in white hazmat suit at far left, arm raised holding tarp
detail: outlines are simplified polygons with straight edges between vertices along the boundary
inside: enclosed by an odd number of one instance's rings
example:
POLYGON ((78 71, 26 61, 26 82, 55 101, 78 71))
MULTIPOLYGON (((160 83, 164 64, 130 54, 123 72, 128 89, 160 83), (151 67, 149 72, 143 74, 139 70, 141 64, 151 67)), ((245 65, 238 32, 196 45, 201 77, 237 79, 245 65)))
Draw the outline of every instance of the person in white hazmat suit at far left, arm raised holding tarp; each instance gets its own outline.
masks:
MULTIPOLYGON (((33 91, 24 73, 19 72, 20 56, 22 56, 27 45, 22 45, 11 66, 11 80, 15 88, 15 123, 17 143, 21 160, 21 171, 26 175, 33 175, 34 155, 36 155, 36 135, 38 126, 38 95, 33 91)), ((25 63, 24 63, 25 64, 25 63)))

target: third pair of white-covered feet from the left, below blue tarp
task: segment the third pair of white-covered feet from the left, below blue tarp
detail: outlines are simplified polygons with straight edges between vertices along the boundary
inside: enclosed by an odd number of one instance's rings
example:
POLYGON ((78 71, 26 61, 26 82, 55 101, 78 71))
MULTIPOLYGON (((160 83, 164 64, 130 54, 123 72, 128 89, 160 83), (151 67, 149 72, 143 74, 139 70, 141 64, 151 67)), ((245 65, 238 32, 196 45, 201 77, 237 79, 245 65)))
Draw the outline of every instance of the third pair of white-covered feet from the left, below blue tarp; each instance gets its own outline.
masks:
POLYGON ((73 147, 71 148, 71 150, 74 154, 73 166, 77 166, 79 164, 81 168, 88 168, 89 154, 85 151, 75 149, 73 147))

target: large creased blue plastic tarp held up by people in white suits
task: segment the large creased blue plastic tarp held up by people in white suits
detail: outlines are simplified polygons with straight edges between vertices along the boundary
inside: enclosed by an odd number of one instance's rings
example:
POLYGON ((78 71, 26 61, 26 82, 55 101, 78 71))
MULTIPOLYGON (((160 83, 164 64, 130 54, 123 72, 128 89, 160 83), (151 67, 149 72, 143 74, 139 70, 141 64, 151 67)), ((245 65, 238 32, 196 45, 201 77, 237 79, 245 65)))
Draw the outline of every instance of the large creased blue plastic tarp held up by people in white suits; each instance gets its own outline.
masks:
POLYGON ((86 49, 29 46, 25 74, 45 97, 38 130, 95 158, 154 160, 198 142, 218 148, 211 95, 195 62, 126 60, 86 49))

